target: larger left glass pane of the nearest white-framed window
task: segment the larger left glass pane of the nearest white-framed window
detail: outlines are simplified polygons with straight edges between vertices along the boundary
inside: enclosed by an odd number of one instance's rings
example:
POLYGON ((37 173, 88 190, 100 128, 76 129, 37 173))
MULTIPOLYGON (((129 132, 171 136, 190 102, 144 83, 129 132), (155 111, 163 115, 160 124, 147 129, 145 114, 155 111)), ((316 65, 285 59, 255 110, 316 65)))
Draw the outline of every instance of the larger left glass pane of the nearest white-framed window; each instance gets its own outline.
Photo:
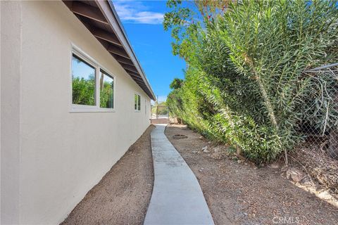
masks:
POLYGON ((73 54, 73 104, 95 105, 95 69, 73 54))

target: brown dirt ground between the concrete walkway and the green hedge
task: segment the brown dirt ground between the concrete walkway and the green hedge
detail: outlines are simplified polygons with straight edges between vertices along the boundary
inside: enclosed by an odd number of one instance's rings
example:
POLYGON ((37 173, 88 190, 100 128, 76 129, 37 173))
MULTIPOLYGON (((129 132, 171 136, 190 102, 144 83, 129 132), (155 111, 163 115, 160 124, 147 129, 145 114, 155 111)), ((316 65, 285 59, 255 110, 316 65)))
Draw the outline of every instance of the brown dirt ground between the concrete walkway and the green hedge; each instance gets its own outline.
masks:
POLYGON ((337 224, 337 207, 292 184, 280 168, 238 163, 180 125, 165 134, 199 179, 215 224, 337 224))

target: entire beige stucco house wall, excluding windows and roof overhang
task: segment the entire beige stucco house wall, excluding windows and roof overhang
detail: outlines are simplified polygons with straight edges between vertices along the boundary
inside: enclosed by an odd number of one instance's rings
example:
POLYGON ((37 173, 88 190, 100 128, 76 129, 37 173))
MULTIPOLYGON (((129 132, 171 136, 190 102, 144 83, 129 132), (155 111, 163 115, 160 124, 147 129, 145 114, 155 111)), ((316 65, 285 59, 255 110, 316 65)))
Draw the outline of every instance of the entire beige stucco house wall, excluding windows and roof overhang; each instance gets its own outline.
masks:
POLYGON ((2 223, 63 221, 149 117, 149 97, 61 1, 1 2, 2 223), (115 113, 70 113, 71 44, 115 75, 115 113))

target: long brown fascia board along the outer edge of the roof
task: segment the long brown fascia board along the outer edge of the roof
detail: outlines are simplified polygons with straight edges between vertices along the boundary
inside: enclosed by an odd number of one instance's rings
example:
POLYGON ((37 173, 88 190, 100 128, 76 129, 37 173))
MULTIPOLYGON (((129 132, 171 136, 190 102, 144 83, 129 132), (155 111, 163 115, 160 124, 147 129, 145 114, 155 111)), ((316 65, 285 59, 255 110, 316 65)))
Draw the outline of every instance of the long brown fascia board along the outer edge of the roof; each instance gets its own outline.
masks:
POLYGON ((132 50, 132 46, 130 45, 130 42, 127 39, 127 35, 125 34, 125 30, 123 29, 123 25, 120 22, 120 19, 118 18, 118 14, 115 11, 113 3, 109 0, 108 1, 96 0, 96 4, 97 6, 99 6, 99 9, 101 10, 102 14, 106 18, 106 21, 108 22, 108 24, 111 25, 111 28, 113 29, 116 36, 118 37, 120 44, 122 44, 123 48, 125 49, 127 56, 129 56, 130 60, 132 60, 132 63, 134 63, 134 67, 136 68, 137 72, 144 80, 144 84, 146 85, 146 88, 149 89, 149 92, 150 92, 149 97, 153 100, 156 100, 154 91, 151 89, 149 81, 148 79, 146 79, 146 76, 144 75, 144 71, 142 70, 139 60, 137 60, 137 57, 134 51, 132 50))

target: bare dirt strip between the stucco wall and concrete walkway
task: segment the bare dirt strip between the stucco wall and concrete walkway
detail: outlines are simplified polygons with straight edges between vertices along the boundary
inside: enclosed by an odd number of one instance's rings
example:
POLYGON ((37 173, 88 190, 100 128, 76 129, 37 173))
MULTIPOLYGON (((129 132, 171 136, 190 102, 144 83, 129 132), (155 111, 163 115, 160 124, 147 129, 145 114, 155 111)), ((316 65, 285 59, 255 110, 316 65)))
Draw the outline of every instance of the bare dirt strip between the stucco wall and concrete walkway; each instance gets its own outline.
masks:
POLYGON ((150 132, 132 145, 62 225, 143 224, 154 183, 150 132))

